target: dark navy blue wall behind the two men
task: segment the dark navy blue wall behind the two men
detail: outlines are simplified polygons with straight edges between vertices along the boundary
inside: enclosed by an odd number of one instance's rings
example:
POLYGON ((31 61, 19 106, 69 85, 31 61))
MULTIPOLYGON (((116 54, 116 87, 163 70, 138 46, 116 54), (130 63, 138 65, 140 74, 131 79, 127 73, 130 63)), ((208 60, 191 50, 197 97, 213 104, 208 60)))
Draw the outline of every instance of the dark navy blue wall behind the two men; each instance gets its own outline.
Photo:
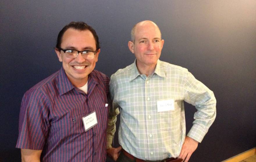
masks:
MULTIPOLYGON (((108 76, 134 61, 127 47, 133 25, 145 19, 159 25, 160 59, 189 69, 217 99, 216 121, 191 162, 222 161, 256 146, 256 1, 3 0, 0 6, 0 161, 20 161, 22 96, 60 69, 54 46, 70 21, 95 28, 96 69, 108 76)), ((185 111, 189 129, 195 108, 186 104, 185 111)))

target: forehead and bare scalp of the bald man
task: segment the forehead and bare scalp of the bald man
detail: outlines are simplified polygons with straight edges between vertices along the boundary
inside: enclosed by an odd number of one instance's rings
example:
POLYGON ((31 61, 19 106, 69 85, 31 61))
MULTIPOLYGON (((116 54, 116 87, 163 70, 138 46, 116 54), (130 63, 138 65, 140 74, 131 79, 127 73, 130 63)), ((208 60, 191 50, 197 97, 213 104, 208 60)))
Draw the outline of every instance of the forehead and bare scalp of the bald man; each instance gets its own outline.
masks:
POLYGON ((161 39, 161 32, 159 28, 154 25, 153 23, 143 23, 138 24, 135 28, 135 39, 141 38, 160 38, 161 39))

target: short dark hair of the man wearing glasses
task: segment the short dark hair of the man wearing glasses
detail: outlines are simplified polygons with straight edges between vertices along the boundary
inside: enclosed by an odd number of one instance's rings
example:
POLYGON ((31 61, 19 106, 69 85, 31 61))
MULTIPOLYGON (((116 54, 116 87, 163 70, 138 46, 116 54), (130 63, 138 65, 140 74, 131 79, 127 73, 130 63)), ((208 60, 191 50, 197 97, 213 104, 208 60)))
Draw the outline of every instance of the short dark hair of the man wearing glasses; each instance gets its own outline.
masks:
POLYGON ((67 24, 66 26, 63 27, 63 29, 58 34, 56 48, 61 48, 61 41, 62 41, 63 34, 69 28, 74 28, 74 29, 77 29, 77 30, 90 30, 90 32, 92 32, 93 37, 94 37, 95 42, 96 42, 96 51, 100 48, 99 47, 99 37, 97 36, 97 33, 95 32, 95 30, 90 25, 87 25, 86 23, 81 22, 81 21, 80 22, 72 21, 71 23, 69 23, 69 24, 67 24))

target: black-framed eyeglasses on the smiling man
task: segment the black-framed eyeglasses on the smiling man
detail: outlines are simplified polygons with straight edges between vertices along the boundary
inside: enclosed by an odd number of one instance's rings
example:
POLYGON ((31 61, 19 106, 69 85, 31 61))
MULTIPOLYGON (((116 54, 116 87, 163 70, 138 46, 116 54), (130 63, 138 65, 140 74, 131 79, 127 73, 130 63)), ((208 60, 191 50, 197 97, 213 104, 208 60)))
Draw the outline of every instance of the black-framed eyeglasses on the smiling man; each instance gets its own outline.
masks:
POLYGON ((62 49, 62 48, 58 48, 58 49, 63 51, 67 58, 76 58, 78 54, 81 52, 84 59, 90 60, 90 59, 93 59, 94 55, 97 53, 97 51, 91 51, 91 50, 78 51, 76 49, 62 49))

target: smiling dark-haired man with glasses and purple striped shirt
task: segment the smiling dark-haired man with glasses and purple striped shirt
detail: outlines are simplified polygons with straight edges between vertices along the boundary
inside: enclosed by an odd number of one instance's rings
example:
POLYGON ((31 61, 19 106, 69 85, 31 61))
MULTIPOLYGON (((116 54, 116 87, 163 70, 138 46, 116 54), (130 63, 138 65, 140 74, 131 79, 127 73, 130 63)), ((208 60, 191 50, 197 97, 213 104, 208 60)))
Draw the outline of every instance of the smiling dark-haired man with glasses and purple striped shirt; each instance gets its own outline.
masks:
POLYGON ((106 161, 109 78, 94 70, 98 36, 86 23, 71 22, 55 52, 62 68, 22 99, 16 145, 22 161, 106 161))

